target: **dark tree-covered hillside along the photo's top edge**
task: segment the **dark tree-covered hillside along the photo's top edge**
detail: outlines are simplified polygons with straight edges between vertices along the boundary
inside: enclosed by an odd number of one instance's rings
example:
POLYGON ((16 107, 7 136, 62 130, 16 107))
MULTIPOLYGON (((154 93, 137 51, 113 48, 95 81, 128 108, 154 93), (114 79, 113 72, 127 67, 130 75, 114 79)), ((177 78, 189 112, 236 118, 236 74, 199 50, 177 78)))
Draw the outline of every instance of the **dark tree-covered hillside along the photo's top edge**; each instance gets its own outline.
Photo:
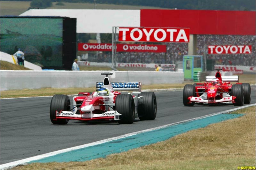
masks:
MULTIPOLYGON (((9 0, 9 1, 31 1, 31 0, 9 0)), ((32 0, 30 7, 47 8, 52 6, 52 2, 70 3, 94 3, 94 0, 32 0)), ((97 4, 119 4, 152 6, 169 9, 188 10, 238 10, 255 11, 255 0, 96 0, 97 4)))

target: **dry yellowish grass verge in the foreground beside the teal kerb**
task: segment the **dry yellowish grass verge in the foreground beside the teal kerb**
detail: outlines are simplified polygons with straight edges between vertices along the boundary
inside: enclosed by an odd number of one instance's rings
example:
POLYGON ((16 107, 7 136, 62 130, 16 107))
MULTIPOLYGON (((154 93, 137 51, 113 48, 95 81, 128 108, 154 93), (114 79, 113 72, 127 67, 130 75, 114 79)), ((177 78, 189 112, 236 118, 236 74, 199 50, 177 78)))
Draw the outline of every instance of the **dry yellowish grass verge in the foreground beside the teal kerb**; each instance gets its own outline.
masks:
POLYGON ((12 170, 226 170, 255 166, 255 106, 245 116, 191 130, 169 140, 85 162, 33 163, 12 170))

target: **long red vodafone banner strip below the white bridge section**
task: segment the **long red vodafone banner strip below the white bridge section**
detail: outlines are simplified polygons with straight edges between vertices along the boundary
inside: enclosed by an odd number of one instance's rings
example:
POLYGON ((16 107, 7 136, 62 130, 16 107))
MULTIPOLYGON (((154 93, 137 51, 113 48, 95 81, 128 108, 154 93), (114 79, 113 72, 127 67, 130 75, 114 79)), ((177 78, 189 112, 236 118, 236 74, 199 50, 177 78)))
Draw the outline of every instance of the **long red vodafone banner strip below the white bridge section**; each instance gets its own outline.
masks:
MULTIPOLYGON (((112 51, 112 44, 78 43, 78 51, 112 51)), ((153 44, 116 44, 117 52, 154 52, 165 53, 166 45, 153 44)))

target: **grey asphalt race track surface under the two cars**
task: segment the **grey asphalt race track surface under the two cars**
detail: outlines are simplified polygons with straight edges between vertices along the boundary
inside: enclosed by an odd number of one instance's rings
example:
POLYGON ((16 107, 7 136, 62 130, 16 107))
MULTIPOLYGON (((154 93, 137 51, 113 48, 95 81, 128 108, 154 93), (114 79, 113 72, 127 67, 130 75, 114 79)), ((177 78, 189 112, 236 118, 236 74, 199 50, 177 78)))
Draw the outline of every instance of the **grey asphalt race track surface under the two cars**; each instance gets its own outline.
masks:
MULTIPOLYGON (((182 90, 155 93, 156 120, 136 118, 133 124, 71 120, 67 125, 53 125, 49 117, 52 97, 1 99, 1 164, 235 108, 230 104, 185 107, 182 90)), ((255 103, 255 86, 251 103, 255 103)))

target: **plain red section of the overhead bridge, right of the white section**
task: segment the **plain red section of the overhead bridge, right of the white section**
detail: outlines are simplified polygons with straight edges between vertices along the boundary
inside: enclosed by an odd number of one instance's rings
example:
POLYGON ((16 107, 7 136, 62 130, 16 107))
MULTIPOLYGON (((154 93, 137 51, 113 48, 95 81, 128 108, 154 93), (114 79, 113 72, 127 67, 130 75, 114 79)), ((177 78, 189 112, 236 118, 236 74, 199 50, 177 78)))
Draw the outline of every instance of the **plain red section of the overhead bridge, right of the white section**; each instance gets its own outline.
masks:
POLYGON ((141 27, 190 28, 190 34, 255 35, 255 11, 141 9, 141 27))

